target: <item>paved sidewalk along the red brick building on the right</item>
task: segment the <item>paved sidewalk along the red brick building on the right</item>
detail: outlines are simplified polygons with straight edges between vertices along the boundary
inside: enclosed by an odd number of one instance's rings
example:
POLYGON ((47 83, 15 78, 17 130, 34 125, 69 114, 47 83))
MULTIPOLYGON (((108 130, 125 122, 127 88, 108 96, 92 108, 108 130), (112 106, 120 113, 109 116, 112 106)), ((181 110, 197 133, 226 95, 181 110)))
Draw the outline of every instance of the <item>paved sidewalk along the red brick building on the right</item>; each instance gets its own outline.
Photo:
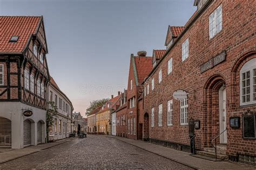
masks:
POLYGON ((195 169, 256 169, 256 167, 239 162, 230 161, 210 161, 192 157, 189 153, 174 150, 172 148, 155 145, 144 142, 142 140, 133 140, 116 136, 109 136, 117 140, 123 141, 124 143, 142 148, 145 151, 160 155, 161 157, 179 162, 180 164, 189 166, 195 169))

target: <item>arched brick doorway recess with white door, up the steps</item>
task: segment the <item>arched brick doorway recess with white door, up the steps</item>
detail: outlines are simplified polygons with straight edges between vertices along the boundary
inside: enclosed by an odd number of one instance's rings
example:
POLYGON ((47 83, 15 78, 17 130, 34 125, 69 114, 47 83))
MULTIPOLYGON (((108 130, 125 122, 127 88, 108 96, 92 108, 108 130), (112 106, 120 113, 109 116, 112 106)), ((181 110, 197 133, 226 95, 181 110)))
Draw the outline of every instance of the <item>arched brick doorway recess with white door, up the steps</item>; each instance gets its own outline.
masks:
MULTIPOLYGON (((213 138, 223 132, 227 127, 226 118, 226 83, 221 75, 213 75, 205 85, 205 121, 207 133, 205 133, 206 145, 211 146, 213 138)), ((217 144, 227 143, 227 132, 225 131, 217 144)))

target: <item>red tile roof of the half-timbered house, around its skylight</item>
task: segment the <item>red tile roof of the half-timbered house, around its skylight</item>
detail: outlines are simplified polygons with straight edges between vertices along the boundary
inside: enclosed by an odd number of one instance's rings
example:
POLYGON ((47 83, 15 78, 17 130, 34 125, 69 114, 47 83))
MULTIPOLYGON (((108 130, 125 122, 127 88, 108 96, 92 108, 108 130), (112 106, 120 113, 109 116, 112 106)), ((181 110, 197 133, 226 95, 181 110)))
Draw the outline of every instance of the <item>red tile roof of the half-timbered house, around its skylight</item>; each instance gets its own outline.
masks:
POLYGON ((0 52, 23 52, 32 34, 35 34, 42 17, 0 16, 0 52), (18 36, 17 42, 9 42, 12 36, 18 36))

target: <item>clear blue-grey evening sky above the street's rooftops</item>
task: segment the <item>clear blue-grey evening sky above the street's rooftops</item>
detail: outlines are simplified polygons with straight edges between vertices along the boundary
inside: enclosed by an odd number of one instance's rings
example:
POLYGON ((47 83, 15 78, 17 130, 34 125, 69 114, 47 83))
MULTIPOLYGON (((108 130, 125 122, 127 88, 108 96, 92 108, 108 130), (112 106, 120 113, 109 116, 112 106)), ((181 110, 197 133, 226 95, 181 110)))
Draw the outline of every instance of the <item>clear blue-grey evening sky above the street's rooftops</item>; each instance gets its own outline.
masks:
POLYGON ((0 0, 2 16, 43 16, 50 75, 85 116, 90 101, 127 88, 130 55, 164 46, 194 0, 0 0))

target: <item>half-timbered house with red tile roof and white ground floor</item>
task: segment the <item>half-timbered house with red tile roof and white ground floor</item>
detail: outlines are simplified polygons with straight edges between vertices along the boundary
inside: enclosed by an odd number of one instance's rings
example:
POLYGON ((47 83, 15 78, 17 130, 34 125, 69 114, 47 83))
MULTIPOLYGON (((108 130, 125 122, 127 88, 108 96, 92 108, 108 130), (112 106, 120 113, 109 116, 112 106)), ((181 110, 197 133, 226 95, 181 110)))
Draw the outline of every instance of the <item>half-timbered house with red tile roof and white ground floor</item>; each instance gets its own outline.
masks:
POLYGON ((0 147, 45 142, 49 70, 43 17, 1 16, 0 147))

